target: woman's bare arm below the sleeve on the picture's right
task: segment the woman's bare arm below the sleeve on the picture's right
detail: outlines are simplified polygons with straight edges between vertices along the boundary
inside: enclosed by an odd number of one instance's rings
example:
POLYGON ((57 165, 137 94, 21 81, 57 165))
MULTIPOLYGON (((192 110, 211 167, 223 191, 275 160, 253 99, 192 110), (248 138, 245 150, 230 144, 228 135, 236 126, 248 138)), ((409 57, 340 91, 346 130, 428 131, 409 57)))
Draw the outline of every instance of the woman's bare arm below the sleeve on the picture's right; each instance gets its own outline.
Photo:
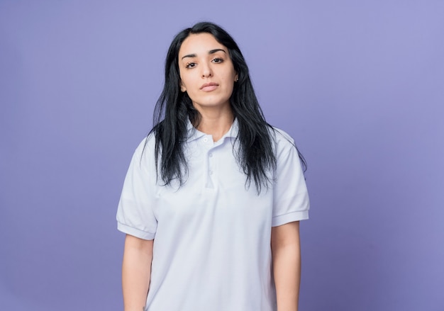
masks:
POLYGON ((272 227, 272 258, 277 310, 297 311, 301 281, 299 222, 272 227))

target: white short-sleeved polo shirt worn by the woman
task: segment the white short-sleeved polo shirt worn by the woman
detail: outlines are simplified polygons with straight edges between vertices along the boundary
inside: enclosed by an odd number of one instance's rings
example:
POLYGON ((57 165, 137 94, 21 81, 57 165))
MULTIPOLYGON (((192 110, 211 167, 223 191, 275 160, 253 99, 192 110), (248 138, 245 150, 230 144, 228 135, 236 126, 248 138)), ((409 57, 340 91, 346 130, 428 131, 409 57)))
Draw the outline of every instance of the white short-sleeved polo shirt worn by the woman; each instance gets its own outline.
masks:
MULTIPOLYGON (((292 138, 277 130, 274 183, 245 187, 233 144, 189 124, 182 187, 156 181, 155 139, 135 150, 118 205, 118 230, 154 239, 148 311, 275 311, 272 226, 309 217, 309 196, 292 138)), ((235 146, 235 145, 234 145, 235 146)))

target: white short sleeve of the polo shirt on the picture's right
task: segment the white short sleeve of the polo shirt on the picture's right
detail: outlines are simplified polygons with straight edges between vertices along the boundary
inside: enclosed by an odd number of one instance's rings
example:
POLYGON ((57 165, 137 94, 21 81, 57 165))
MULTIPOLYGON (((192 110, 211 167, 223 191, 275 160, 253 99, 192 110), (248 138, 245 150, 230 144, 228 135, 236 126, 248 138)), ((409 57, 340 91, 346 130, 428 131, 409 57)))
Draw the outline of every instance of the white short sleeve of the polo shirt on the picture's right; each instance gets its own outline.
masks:
POLYGON ((299 153, 292 137, 277 132, 274 173, 272 226, 309 218, 309 193, 306 188, 299 153))

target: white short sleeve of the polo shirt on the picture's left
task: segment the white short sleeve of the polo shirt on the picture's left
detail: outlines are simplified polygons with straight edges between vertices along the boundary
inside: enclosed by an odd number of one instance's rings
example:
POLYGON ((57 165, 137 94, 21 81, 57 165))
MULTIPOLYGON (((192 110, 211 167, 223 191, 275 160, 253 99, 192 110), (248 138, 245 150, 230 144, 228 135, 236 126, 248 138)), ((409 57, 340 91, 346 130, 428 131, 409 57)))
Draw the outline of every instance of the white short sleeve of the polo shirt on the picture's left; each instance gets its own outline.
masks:
POLYGON ((145 140, 135 149, 117 209, 117 229, 140 239, 154 239, 157 230, 152 154, 145 140))

